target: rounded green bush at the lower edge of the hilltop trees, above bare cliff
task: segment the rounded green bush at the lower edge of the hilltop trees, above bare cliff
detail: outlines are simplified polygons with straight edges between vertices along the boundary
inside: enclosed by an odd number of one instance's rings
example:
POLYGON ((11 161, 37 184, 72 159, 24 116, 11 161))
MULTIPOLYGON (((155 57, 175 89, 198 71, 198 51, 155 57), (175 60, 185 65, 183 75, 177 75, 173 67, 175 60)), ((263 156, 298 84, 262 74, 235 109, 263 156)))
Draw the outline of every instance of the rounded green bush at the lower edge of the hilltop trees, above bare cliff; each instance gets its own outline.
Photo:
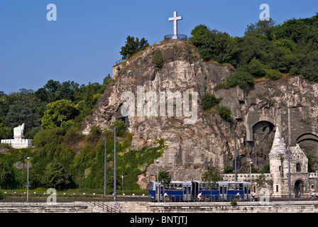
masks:
POLYGON ((253 87, 254 79, 250 73, 243 70, 236 70, 234 74, 231 74, 231 76, 226 79, 226 84, 229 87, 236 87, 236 85, 238 85, 241 89, 246 89, 253 87))

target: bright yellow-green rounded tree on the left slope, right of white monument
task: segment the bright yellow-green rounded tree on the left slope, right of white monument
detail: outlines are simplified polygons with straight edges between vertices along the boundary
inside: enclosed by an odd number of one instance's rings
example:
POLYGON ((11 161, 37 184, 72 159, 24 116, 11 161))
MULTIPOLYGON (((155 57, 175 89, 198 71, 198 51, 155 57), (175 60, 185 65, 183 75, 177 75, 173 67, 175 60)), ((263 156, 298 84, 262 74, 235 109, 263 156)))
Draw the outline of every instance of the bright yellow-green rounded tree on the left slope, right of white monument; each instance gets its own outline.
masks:
POLYGON ((41 126, 43 128, 55 128, 62 123, 62 126, 70 128, 78 114, 79 111, 72 101, 65 99, 54 101, 46 106, 41 126))

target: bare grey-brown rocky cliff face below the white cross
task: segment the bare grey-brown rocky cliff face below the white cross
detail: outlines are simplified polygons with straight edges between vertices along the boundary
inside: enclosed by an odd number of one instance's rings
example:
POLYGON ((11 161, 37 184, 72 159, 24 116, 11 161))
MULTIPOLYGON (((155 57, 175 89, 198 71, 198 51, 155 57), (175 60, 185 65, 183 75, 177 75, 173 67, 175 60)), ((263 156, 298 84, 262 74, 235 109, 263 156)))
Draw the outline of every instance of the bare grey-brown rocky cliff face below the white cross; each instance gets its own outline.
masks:
MULTIPOLYGON (((269 164, 268 153, 280 124, 290 144, 300 143, 305 153, 316 155, 318 145, 318 85, 309 84, 300 77, 289 77, 278 82, 263 80, 249 91, 238 87, 214 89, 233 72, 229 66, 203 62, 194 47, 185 41, 163 42, 147 48, 126 62, 114 66, 113 82, 107 87, 94 112, 84 120, 82 131, 92 126, 109 128, 112 121, 121 118, 120 106, 124 92, 134 94, 135 113, 138 113, 137 91, 157 94, 160 92, 197 92, 197 121, 185 124, 189 118, 177 116, 177 103, 172 116, 128 116, 128 130, 134 134, 132 148, 153 146, 156 138, 164 138, 168 145, 159 160, 159 170, 168 170, 175 180, 201 179, 208 168, 223 170, 234 167, 234 137, 236 140, 238 171, 246 172, 252 160, 259 170, 269 164), (163 55, 163 67, 154 62, 155 52, 163 55), (204 112, 201 97, 215 94, 223 98, 219 105, 231 109, 231 121, 223 121, 217 111, 204 112)), ((182 96, 182 103, 185 96, 182 96)), ((148 99, 143 97, 143 107, 148 99)), ((168 105, 168 104, 167 104, 168 105)), ((167 105, 165 110, 168 109, 167 105)), ((131 107, 130 107, 131 108, 131 107)), ((190 109, 191 109, 190 108, 190 109)), ((158 106, 158 110, 159 110, 158 106)), ((130 109, 131 110, 131 109, 130 109)), ((183 113, 183 112, 182 112, 183 113)), ((124 118, 122 118, 124 120, 124 118)), ((287 142, 287 141, 286 141, 287 142)), ((150 175, 156 175, 156 165, 148 167, 150 175)), ((141 177, 142 178, 142 177, 141 177)), ((142 179, 141 179, 142 180, 142 179)))

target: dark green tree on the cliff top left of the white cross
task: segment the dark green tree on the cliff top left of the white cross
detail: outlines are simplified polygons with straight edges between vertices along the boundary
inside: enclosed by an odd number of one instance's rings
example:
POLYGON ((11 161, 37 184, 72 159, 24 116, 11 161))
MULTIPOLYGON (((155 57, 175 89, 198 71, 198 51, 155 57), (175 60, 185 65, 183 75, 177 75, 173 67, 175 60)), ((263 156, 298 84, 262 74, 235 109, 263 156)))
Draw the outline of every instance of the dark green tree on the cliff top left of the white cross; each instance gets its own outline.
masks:
POLYGON ((126 60, 137 52, 145 50, 148 45, 148 40, 146 40, 145 38, 141 38, 141 40, 139 41, 138 38, 136 38, 135 40, 133 36, 128 35, 126 38, 126 45, 124 45, 124 47, 121 47, 121 58, 123 60, 126 60))

